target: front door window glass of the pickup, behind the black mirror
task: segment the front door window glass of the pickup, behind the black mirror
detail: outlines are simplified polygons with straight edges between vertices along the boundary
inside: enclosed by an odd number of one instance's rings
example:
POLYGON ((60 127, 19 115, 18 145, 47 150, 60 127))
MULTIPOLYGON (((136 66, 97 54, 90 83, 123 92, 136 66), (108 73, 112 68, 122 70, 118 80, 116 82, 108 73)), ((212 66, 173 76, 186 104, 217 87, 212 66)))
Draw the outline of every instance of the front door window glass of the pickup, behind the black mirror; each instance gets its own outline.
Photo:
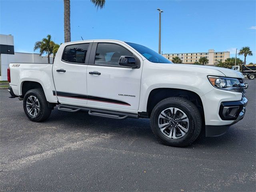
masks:
POLYGON ((130 51, 120 45, 112 43, 98 43, 94 64, 120 66, 120 56, 134 57, 130 51))

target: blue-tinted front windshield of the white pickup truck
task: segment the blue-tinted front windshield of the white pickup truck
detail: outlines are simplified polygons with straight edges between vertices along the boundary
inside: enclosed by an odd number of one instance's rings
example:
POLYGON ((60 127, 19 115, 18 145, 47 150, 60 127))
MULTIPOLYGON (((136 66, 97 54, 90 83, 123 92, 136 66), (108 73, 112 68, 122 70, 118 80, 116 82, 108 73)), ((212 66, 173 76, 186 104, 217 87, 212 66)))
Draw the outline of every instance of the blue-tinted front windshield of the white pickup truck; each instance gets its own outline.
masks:
POLYGON ((132 46, 134 49, 136 49, 140 54, 142 54, 144 57, 146 57, 147 60, 153 63, 172 63, 162 55, 158 54, 157 52, 154 52, 153 50, 139 45, 135 43, 128 43, 128 45, 132 46))

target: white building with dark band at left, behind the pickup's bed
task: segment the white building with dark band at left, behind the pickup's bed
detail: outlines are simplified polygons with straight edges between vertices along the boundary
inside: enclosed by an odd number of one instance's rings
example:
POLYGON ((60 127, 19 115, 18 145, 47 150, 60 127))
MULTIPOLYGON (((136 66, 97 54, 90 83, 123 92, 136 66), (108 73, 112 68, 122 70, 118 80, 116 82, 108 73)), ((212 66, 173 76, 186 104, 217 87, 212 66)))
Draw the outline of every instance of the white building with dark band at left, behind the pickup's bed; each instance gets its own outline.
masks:
MULTIPOLYGON (((52 57, 50 62, 52 63, 52 57)), ((0 81, 7 80, 10 63, 48 63, 48 58, 36 53, 14 52, 13 36, 0 34, 0 81)))

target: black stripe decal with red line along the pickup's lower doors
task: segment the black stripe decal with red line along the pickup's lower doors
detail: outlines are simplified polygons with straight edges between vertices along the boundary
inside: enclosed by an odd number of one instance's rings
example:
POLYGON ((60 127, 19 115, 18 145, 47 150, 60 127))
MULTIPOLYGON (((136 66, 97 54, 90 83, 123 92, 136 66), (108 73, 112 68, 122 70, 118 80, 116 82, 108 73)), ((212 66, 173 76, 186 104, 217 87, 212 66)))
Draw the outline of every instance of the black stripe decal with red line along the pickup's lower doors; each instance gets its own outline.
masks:
MULTIPOLYGON (((53 95, 56 96, 56 91, 52 91, 52 92, 53 92, 53 95)), ((83 94, 77 94, 77 93, 68 93, 68 92, 57 91, 57 96, 131 106, 130 104, 128 104, 124 101, 120 101, 120 100, 109 99, 109 98, 104 98, 104 97, 96 97, 96 96, 91 96, 91 95, 83 95, 83 94)))

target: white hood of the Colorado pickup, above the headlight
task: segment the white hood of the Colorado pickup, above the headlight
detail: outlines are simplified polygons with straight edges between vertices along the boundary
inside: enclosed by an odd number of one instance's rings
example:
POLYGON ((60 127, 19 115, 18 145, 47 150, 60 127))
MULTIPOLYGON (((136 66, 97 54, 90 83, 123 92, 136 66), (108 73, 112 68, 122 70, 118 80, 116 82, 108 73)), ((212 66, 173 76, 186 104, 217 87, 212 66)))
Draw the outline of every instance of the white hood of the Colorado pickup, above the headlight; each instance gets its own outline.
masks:
POLYGON ((235 70, 231 70, 231 69, 227 69, 227 68, 222 68, 222 67, 214 67, 214 66, 204 66, 204 65, 194 65, 194 64, 172 64, 172 65, 178 65, 178 66, 183 66, 183 67, 188 67, 188 68, 198 68, 198 70, 204 70, 204 69, 213 69, 213 70, 217 70, 219 72, 221 72, 224 76, 226 77, 233 77, 233 78, 244 78, 243 74, 235 71, 235 70))

